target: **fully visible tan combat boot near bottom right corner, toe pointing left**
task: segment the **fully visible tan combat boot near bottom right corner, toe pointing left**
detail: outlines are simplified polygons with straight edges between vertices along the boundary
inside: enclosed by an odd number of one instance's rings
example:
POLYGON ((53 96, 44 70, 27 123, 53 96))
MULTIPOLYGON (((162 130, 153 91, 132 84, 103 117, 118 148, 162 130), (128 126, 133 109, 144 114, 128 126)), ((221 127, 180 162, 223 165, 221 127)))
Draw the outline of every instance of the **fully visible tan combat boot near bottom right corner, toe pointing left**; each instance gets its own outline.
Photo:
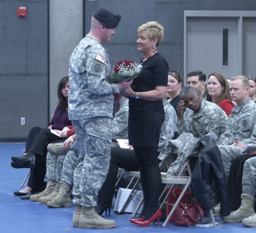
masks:
POLYGON ((244 218, 248 218, 254 214, 253 204, 254 197, 248 194, 241 194, 241 205, 238 210, 232 212, 230 215, 223 217, 225 222, 242 222, 244 218))

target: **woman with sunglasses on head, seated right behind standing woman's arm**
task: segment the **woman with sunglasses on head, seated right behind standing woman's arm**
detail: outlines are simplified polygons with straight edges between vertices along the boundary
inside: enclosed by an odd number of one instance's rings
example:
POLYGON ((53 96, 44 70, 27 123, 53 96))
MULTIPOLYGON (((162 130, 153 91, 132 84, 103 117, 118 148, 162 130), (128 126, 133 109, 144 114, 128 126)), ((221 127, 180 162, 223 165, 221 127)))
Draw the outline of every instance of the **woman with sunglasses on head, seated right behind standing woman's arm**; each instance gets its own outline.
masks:
POLYGON ((177 116, 177 104, 181 101, 181 97, 179 96, 179 92, 181 91, 183 83, 183 77, 178 71, 171 71, 168 73, 168 84, 167 84, 167 93, 169 97, 167 97, 168 102, 175 109, 177 116))

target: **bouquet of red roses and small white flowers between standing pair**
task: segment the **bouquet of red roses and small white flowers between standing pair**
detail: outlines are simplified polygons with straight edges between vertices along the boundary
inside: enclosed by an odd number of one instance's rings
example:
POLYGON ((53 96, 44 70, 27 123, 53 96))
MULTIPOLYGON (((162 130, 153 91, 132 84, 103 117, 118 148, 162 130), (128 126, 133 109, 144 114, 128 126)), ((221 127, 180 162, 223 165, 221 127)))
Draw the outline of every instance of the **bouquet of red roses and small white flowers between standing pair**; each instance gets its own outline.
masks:
POLYGON ((134 61, 119 61, 113 68, 113 71, 108 79, 109 83, 117 83, 124 79, 134 79, 139 76, 141 64, 134 61))

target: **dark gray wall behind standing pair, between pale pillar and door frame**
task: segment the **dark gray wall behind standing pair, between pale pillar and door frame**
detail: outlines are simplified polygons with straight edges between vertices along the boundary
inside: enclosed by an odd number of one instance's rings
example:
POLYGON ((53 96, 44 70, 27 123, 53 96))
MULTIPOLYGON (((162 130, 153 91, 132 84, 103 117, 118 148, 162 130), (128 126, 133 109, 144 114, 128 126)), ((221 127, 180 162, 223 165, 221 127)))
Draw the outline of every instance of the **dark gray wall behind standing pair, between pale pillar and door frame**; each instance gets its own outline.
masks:
POLYGON ((142 57, 137 52, 137 28, 148 21, 158 21, 165 28, 163 43, 158 51, 166 58, 172 71, 183 73, 184 10, 256 10, 255 0, 95 0, 85 1, 85 31, 90 30, 94 11, 106 8, 122 16, 109 49, 112 65, 124 59, 142 57))

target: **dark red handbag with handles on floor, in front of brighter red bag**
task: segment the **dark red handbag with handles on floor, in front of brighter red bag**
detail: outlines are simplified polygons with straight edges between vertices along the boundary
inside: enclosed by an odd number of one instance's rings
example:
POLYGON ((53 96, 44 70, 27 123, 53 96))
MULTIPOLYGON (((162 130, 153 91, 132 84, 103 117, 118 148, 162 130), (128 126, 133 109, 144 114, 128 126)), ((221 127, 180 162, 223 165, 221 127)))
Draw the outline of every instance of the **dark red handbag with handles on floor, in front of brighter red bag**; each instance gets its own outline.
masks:
POLYGON ((197 202, 179 202, 174 210, 174 224, 179 227, 192 227, 204 218, 204 211, 197 202))

